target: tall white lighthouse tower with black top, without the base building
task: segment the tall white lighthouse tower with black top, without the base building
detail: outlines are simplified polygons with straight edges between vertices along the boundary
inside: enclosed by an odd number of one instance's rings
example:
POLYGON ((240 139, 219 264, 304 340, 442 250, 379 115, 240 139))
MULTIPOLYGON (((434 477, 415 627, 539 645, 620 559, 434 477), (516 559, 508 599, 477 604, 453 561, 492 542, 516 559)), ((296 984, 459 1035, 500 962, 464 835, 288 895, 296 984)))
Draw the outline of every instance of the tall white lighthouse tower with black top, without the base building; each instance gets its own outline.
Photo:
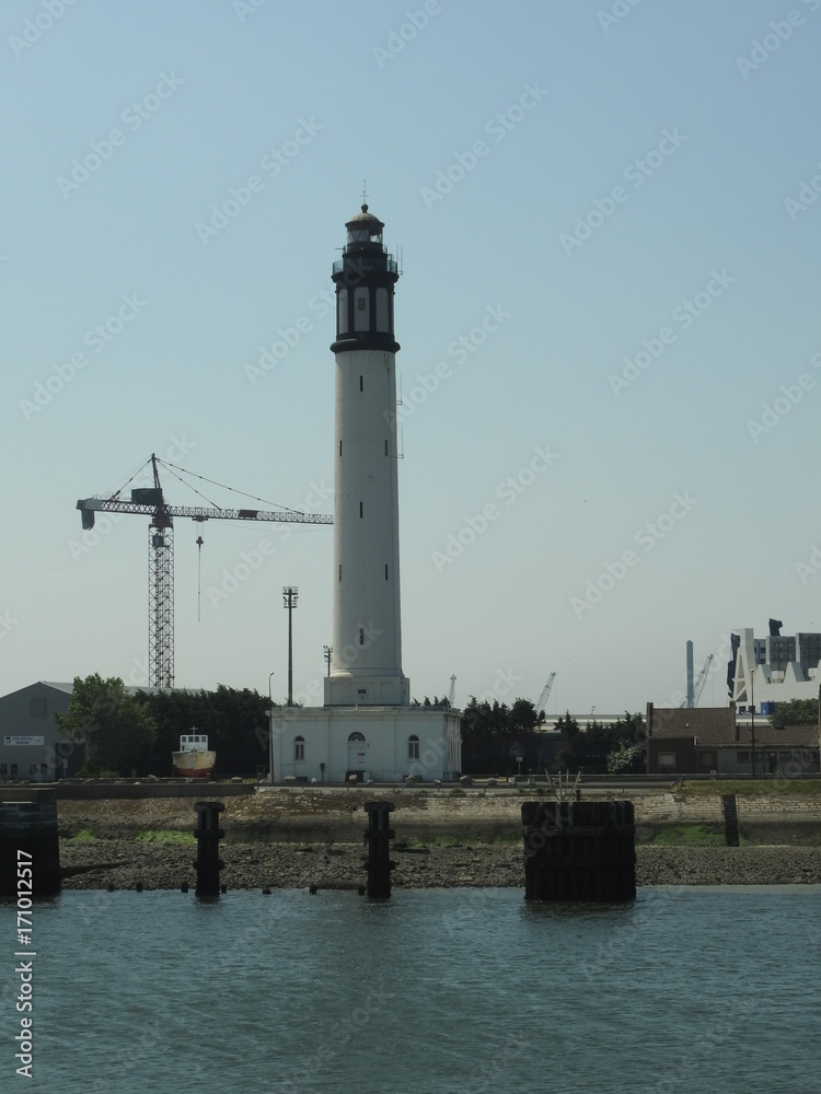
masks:
POLYGON ((363 205, 334 263, 333 662, 325 705, 410 701, 402 673, 394 286, 384 224, 363 205))

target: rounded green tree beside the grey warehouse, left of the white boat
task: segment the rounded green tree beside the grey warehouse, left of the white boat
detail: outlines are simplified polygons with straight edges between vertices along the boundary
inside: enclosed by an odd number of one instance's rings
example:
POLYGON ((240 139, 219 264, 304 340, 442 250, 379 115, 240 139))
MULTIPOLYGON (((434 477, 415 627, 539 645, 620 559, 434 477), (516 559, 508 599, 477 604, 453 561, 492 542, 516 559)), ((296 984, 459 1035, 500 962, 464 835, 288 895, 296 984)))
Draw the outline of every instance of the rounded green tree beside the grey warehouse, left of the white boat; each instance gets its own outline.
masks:
POLYGON ((96 773, 130 775, 142 766, 157 736, 154 720, 123 680, 103 679, 99 673, 74 677, 68 711, 56 713, 55 720, 70 741, 85 742, 85 766, 96 773))

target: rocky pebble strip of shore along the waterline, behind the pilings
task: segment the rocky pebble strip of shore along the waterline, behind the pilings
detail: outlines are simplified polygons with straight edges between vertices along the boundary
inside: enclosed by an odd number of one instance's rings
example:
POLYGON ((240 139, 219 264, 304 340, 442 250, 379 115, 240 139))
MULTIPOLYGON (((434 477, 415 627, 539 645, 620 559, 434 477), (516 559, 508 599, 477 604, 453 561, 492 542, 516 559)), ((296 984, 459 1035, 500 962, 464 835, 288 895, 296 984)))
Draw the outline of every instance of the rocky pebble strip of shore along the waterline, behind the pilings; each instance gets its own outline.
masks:
MULTIPOLYGON (((229 889, 354 887, 365 884, 361 843, 223 845, 229 889)), ((514 845, 392 848, 396 888, 524 888, 522 849, 514 845)), ((63 889, 178 889, 196 882, 193 842, 135 839, 60 841, 63 889)), ((818 847, 638 846, 636 881, 657 885, 821 885, 818 847)))

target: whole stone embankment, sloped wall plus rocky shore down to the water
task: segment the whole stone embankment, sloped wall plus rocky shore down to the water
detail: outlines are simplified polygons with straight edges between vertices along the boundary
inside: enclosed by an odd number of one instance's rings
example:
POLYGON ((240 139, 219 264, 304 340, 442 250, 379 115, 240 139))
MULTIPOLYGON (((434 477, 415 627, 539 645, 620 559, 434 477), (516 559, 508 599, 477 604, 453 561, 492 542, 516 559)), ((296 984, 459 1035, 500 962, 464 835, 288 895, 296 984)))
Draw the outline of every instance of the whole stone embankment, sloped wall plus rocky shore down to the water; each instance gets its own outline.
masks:
MULTIPOLYGON (((207 788, 203 788, 207 798, 207 788)), ((363 884, 362 803, 395 803, 393 884, 397 887, 524 885, 520 807, 506 791, 265 789, 226 799, 222 881, 229 888, 363 884)), ((770 846, 645 846, 664 828, 704 825, 720 831, 717 795, 633 795, 639 885, 821 884, 821 801, 739 799, 745 825, 774 838, 770 846), (776 846, 777 845, 777 846, 776 846), (793 846, 786 846, 793 845, 793 846), (803 846, 796 846, 803 845, 803 846)), ((196 846, 174 842, 192 833, 192 801, 152 798, 61 801, 60 857, 65 888, 193 886, 196 846), (153 833, 171 841, 142 841, 153 833), (176 836, 174 835, 176 834, 176 836)))

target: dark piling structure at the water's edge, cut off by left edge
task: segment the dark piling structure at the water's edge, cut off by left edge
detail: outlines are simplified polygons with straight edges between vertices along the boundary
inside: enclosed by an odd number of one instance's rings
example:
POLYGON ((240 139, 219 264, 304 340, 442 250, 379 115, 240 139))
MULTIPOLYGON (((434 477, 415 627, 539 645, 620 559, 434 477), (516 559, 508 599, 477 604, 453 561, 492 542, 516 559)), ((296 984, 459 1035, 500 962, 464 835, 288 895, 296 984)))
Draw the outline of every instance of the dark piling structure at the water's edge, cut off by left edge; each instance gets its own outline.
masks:
POLYGON ((55 795, 26 788, 26 796, 33 800, 0 803, 0 896, 54 896, 61 887, 55 795), (19 866, 31 873, 21 875, 19 866))

